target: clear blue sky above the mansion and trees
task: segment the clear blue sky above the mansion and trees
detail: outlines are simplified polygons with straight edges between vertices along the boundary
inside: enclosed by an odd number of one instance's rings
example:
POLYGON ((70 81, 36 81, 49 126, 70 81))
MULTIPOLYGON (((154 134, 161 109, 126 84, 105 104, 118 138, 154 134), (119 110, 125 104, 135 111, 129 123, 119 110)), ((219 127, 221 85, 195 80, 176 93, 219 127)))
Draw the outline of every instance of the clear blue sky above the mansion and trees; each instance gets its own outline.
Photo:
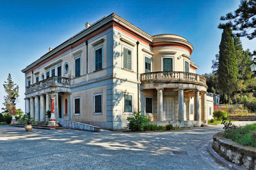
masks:
MULTIPOLYGON (((210 73, 219 52, 221 15, 237 9, 239 0, 216 1, 3 1, 0 0, 0 83, 8 73, 20 87, 17 108, 24 110, 24 74, 21 69, 77 32, 86 22, 116 13, 148 34, 178 34, 195 48, 191 57, 197 73, 210 73)), ((254 50, 256 40, 242 39, 254 50)), ((4 89, 0 86, 0 104, 4 89)), ((1 108, 3 105, 1 106, 1 108)))

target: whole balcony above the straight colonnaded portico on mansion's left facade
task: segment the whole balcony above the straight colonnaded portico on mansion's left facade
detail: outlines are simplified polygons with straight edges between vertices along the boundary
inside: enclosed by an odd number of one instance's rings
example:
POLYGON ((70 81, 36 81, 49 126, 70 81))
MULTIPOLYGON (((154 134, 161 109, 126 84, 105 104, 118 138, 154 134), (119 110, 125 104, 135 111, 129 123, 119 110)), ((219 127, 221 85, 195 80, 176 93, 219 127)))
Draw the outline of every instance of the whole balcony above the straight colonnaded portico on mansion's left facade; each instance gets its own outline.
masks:
POLYGON ((48 92, 49 87, 56 86, 56 92, 68 92, 71 86, 70 78, 51 76, 26 87, 26 94, 37 91, 48 92))

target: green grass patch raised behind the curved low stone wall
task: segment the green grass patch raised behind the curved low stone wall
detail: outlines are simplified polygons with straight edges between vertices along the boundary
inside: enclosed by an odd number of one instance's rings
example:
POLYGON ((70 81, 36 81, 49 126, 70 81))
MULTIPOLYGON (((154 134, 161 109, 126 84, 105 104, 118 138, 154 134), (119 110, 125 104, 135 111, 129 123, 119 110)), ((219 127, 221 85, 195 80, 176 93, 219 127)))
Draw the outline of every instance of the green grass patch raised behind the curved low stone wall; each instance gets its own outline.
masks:
POLYGON ((256 124, 246 125, 224 132, 226 138, 231 139, 244 146, 256 146, 256 124))

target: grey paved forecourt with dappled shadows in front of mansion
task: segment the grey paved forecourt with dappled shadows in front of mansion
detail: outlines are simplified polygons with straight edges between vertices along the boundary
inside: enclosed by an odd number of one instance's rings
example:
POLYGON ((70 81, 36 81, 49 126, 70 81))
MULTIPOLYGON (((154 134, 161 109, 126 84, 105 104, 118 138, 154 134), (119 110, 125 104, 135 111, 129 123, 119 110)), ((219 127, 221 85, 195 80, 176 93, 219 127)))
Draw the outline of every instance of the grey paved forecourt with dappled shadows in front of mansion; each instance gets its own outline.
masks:
POLYGON ((206 150, 218 131, 222 126, 147 133, 0 126, 0 169, 225 169, 206 150))

